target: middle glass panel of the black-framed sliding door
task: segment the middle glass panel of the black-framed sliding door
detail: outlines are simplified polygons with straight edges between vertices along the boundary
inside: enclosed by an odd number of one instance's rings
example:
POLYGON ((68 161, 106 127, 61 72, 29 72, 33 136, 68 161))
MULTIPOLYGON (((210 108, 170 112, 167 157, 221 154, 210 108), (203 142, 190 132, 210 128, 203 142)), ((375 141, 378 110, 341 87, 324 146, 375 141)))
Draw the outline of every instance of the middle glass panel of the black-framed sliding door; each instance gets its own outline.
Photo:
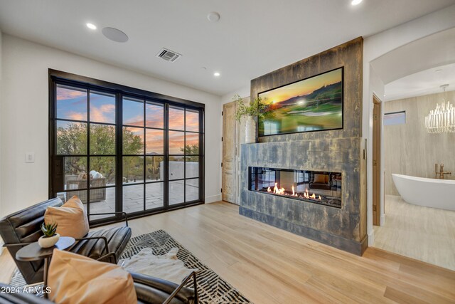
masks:
POLYGON ((164 207, 164 105, 122 98, 122 210, 164 207))

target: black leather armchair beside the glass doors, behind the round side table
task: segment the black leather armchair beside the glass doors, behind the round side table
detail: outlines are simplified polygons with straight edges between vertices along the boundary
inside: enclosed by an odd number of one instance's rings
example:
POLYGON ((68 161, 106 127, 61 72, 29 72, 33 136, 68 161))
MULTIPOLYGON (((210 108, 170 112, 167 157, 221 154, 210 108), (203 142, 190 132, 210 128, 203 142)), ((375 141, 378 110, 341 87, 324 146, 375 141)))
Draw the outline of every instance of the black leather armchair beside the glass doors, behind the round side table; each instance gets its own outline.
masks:
MULTIPOLYGON (((0 236, 5 242, 4 246, 28 284, 43 281, 44 261, 17 261, 16 252, 28 243, 38 241, 42 235, 40 225, 44 221, 45 209, 62 204, 61 199, 49 199, 0 219, 0 236)), ((126 219, 126 214, 124 216, 126 219)), ((106 261, 117 263, 130 238, 131 229, 128 226, 90 231, 84 238, 77 239, 70 251, 94 259, 113 253, 107 255, 106 261)))

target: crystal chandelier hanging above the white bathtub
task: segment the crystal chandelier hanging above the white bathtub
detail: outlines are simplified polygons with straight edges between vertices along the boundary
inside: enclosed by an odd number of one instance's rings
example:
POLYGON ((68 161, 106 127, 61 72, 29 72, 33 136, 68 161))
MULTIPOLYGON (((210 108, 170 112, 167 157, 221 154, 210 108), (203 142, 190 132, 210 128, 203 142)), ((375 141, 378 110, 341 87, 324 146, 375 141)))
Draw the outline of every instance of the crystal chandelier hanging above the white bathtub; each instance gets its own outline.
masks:
MULTIPOLYGON (((441 85, 446 92, 449 85, 441 85)), ((425 127, 429 133, 455 133, 455 107, 450 101, 442 99, 441 105, 436 105, 425 117, 425 127)))

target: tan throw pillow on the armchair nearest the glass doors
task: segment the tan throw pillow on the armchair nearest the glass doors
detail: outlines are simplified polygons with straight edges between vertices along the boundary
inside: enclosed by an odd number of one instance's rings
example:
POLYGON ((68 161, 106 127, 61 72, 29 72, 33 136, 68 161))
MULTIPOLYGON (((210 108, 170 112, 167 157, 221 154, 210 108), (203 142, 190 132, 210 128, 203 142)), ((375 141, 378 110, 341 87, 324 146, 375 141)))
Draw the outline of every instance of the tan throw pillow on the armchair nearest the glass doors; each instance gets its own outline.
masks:
POLYGON ((44 214, 45 224, 57 223, 60 236, 72 236, 75 239, 84 237, 88 226, 87 212, 77 196, 73 196, 60 207, 48 207, 44 214))

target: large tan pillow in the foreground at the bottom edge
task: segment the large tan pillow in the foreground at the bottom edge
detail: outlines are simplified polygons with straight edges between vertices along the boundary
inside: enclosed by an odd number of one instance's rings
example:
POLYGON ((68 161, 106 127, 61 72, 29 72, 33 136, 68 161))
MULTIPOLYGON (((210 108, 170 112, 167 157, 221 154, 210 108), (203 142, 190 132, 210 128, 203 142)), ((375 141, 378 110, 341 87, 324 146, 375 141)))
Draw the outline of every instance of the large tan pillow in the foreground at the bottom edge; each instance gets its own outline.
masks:
POLYGON ((54 249, 48 274, 55 303, 137 303, 132 276, 112 263, 54 249))

